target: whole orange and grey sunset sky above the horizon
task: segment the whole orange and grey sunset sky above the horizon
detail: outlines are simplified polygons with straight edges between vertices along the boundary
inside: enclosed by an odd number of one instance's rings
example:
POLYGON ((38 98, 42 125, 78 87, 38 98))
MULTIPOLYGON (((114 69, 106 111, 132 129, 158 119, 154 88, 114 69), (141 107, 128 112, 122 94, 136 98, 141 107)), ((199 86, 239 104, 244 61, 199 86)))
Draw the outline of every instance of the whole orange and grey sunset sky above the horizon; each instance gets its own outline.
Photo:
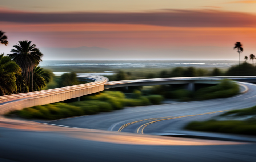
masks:
POLYGON ((256 0, 1 0, 9 45, 45 60, 237 60, 256 55, 256 0))

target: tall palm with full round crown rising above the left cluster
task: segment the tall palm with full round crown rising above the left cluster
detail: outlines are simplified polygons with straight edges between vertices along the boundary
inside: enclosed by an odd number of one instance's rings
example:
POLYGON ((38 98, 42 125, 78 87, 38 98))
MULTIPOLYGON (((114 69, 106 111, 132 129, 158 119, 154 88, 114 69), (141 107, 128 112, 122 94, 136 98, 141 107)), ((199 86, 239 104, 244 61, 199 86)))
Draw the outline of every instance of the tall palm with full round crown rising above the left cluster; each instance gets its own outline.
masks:
POLYGON ((43 54, 35 44, 31 45, 31 41, 27 40, 19 41, 19 44, 12 47, 16 49, 12 49, 13 53, 8 56, 20 66, 25 77, 25 85, 29 87, 29 91, 33 91, 33 69, 42 61, 43 54), (31 85, 29 84, 30 74, 31 85))

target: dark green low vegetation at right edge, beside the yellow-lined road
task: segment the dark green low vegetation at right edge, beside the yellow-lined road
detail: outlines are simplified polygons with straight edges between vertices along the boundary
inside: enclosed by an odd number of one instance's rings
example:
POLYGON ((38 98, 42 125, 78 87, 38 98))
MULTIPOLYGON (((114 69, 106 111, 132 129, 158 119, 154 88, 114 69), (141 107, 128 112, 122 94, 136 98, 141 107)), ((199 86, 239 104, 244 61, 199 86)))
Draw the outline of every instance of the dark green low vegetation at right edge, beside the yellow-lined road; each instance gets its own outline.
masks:
POLYGON ((221 133, 236 133, 256 135, 256 106, 240 110, 228 111, 221 114, 219 118, 229 116, 233 119, 247 117, 244 120, 208 120, 208 121, 193 121, 186 126, 186 129, 195 131, 221 132, 221 133))

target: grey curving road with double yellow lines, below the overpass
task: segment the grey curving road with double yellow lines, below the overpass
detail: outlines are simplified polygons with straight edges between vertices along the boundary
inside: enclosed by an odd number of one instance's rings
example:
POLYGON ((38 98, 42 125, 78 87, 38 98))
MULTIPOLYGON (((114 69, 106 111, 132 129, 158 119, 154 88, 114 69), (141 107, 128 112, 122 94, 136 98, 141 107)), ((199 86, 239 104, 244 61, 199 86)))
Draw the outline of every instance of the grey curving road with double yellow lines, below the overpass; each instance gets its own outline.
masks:
POLYGON ((131 107, 111 113, 61 119, 49 123, 131 133, 173 133, 173 130, 177 132, 191 120, 205 120, 223 111, 255 106, 256 85, 243 84, 248 87, 247 93, 231 98, 131 107))

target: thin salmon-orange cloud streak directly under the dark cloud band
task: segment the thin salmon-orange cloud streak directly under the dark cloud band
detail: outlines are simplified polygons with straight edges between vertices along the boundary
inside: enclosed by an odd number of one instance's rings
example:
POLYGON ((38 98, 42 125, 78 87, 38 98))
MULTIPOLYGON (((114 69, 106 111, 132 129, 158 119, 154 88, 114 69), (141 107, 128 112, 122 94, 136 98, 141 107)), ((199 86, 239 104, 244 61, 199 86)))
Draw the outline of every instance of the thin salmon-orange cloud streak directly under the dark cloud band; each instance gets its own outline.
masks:
POLYGON ((1 30, 6 32, 168 31, 173 29, 173 27, 165 26, 109 23, 25 24, 6 22, 1 25, 1 30))

